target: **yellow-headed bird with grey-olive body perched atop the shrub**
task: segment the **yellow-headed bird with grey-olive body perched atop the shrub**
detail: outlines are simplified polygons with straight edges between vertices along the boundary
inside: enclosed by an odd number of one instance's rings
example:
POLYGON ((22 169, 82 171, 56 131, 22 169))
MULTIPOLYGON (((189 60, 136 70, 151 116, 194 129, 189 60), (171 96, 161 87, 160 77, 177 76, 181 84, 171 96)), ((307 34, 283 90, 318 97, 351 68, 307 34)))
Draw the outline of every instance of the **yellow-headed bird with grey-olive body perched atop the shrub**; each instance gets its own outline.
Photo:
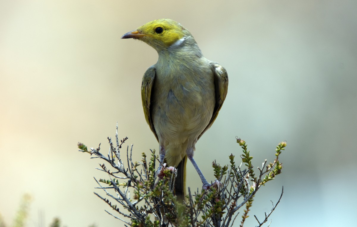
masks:
POLYGON ((211 127, 226 98, 227 71, 206 59, 190 31, 174 20, 150 21, 121 37, 128 38, 143 41, 159 55, 142 78, 142 106, 159 142, 163 165, 157 175, 162 178, 166 164, 175 167, 175 194, 183 200, 187 158, 200 176, 202 188, 212 185, 198 168, 193 153, 197 140, 211 127))

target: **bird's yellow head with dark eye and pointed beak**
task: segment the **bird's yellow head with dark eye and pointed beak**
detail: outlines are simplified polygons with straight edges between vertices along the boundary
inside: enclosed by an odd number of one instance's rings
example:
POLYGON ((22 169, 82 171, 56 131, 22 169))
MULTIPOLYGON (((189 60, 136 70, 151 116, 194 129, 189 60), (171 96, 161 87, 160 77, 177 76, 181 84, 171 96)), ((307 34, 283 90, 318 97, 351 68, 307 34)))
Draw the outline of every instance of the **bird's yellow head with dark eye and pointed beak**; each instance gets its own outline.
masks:
POLYGON ((170 19, 160 19, 150 21, 121 38, 139 39, 160 51, 169 48, 172 44, 177 44, 184 37, 192 37, 192 35, 180 23, 170 19))

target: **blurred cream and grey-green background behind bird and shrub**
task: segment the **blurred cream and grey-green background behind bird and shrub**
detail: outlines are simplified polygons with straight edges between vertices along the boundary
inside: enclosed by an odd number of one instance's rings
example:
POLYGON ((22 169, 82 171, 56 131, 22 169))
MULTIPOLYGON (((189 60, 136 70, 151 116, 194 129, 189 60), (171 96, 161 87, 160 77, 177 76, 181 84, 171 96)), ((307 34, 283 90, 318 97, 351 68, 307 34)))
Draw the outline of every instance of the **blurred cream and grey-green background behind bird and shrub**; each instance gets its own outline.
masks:
MULTIPOLYGON (((356 196, 357 1, 0 1, 0 213, 10 225, 24 193, 27 226, 124 226, 93 191, 99 159, 77 150, 129 137, 134 156, 158 144, 140 86, 157 60, 121 35, 160 18, 191 31, 206 58, 225 66, 228 95, 196 146, 228 163, 245 139, 260 166, 287 140, 285 168, 260 190, 246 226, 262 219, 284 186, 271 226, 351 226, 356 196)), ((102 162, 101 162, 102 163, 102 162)), ((188 186, 201 187, 188 163, 188 186)), ((235 223, 239 225, 238 221, 235 223)))

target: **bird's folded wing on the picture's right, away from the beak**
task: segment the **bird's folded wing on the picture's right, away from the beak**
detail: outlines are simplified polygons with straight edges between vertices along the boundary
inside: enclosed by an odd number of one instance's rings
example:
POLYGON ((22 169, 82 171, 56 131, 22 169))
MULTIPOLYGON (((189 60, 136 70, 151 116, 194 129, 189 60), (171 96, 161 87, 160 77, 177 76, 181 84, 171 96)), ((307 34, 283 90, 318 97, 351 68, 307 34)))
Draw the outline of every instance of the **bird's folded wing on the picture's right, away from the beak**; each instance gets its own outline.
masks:
POLYGON ((225 68, 216 62, 211 63, 213 77, 215 79, 215 92, 216 92, 216 104, 215 109, 213 110, 213 115, 210 120, 210 123, 207 125, 205 130, 198 136, 199 139, 207 129, 211 127, 213 122, 216 120, 218 112, 220 111, 224 100, 226 99, 227 89, 228 89, 228 74, 225 68))

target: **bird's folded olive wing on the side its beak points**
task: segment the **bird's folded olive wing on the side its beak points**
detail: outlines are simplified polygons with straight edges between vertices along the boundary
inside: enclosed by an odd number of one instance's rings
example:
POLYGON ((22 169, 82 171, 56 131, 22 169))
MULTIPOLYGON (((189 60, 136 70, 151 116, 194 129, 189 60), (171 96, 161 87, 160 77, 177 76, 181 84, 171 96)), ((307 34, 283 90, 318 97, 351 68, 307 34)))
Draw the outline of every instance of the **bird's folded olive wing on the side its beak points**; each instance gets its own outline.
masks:
POLYGON ((144 114, 147 124, 149 124, 151 131, 154 133, 157 141, 159 138, 157 137, 154 123, 152 122, 152 113, 150 109, 150 101, 152 96, 152 91, 154 91, 154 82, 155 82, 156 71, 153 66, 146 70, 144 77, 142 77, 141 84, 141 100, 142 100, 142 108, 144 108, 144 114))

